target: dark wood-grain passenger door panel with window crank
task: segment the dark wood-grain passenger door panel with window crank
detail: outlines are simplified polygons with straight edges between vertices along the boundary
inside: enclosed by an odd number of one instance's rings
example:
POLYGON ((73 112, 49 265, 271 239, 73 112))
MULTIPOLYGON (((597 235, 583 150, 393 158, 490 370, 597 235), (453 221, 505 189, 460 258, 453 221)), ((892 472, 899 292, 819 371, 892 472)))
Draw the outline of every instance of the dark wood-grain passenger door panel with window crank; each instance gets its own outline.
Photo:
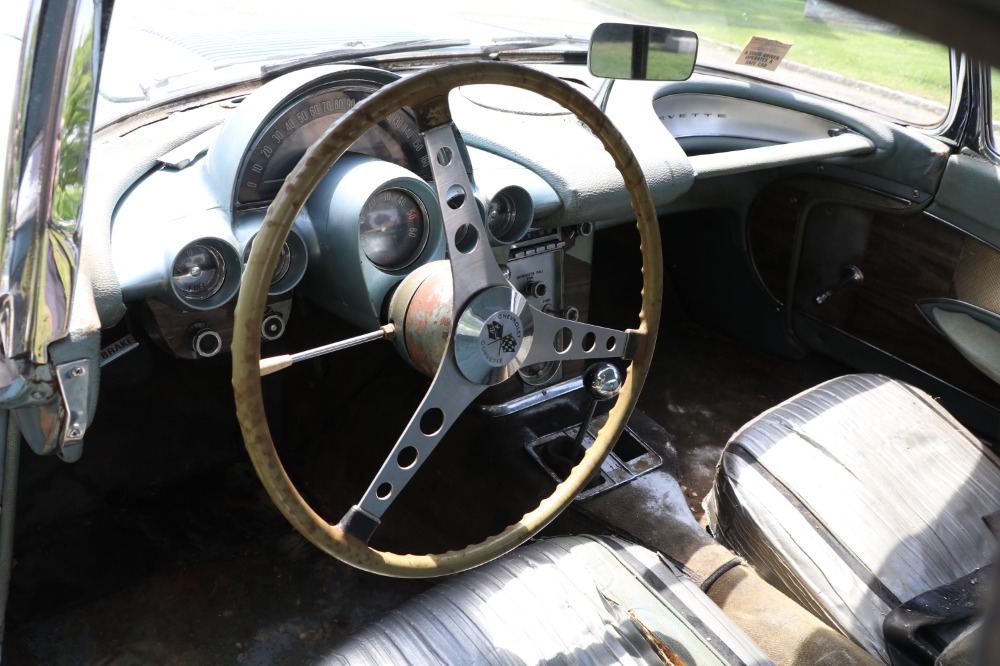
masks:
POLYGON ((826 197, 829 184, 821 179, 791 178, 769 186, 751 211, 751 256, 774 298, 792 304, 789 328, 808 318, 1000 405, 1000 384, 919 308, 922 301, 952 299, 1000 315, 1000 251, 929 212, 911 210, 916 206, 848 187, 865 206, 843 203, 849 195, 826 197), (861 285, 841 284, 848 266, 859 269, 861 285))

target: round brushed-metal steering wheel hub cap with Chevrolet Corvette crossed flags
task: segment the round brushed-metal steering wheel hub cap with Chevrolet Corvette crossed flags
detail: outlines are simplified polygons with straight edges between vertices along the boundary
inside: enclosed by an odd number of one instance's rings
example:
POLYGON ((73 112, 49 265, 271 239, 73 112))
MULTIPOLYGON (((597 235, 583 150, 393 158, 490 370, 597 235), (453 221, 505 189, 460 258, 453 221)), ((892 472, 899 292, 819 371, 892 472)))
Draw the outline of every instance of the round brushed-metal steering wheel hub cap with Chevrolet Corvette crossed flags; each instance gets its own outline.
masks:
POLYGON ((455 362, 465 378, 492 386, 509 378, 531 349, 528 301, 511 287, 490 287, 469 301, 455 325, 455 362))

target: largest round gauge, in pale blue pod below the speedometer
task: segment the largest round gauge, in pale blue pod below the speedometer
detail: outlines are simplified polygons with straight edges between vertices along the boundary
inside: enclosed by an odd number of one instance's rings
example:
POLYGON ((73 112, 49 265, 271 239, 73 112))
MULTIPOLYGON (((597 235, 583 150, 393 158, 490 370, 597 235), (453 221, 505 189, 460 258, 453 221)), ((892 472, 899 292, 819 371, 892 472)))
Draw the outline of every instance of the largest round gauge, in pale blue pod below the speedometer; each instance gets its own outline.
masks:
POLYGON ((427 215, 406 190, 372 195, 361 209, 361 249, 373 264, 396 271, 412 264, 427 242, 427 215))

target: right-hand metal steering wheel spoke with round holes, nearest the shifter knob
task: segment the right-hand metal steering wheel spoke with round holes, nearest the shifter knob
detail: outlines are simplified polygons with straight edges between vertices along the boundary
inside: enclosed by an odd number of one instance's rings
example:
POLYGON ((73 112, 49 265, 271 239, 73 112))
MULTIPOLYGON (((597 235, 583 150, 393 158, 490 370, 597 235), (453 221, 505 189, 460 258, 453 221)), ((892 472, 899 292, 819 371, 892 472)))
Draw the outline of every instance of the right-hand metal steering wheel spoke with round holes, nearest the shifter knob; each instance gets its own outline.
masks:
POLYGON ((622 358, 634 353, 637 331, 619 331, 546 314, 531 307, 534 326, 524 365, 546 361, 622 358))

